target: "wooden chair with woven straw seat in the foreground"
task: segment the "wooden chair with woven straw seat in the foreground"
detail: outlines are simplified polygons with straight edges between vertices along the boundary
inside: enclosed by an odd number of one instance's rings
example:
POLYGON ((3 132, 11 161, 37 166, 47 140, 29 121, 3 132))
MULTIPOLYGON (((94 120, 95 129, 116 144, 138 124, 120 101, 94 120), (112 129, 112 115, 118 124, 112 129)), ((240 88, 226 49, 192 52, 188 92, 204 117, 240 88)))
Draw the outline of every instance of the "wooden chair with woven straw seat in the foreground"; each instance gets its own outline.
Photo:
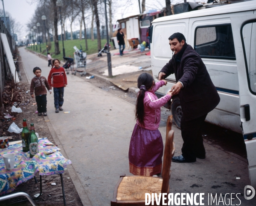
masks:
MULTIPOLYGON (((168 117, 166 125, 166 143, 162 169, 163 178, 120 175, 114 190, 113 199, 111 200, 111 206, 145 206, 145 193, 169 193, 171 161, 175 152, 173 142, 174 131, 171 129, 172 115, 168 117)), ((156 205, 156 202, 154 204, 156 205)))

